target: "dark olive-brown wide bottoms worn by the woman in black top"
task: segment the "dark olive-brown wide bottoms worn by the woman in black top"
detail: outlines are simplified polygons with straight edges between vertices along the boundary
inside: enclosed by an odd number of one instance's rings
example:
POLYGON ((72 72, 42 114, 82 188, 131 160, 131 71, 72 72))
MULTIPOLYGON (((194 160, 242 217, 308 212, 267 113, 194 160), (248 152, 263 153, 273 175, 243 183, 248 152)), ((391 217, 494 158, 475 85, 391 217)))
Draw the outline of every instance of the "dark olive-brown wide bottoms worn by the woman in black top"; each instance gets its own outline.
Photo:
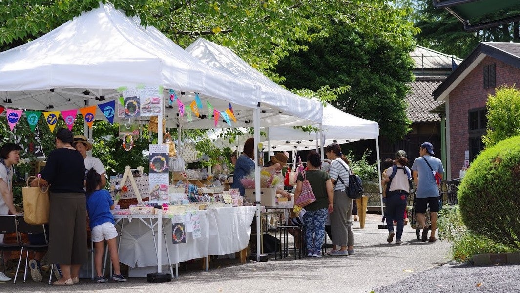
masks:
POLYGON ((49 263, 87 261, 87 209, 84 193, 50 193, 49 263))

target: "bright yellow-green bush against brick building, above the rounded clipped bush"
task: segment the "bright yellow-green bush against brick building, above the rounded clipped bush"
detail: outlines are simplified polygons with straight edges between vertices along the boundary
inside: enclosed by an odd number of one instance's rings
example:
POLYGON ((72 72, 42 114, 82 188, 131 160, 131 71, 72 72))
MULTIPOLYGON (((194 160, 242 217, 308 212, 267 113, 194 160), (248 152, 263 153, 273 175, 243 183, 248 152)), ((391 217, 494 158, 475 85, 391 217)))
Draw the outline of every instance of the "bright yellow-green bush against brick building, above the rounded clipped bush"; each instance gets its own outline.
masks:
POLYGON ((520 135, 520 90, 515 86, 497 88, 489 95, 487 131, 482 141, 486 148, 499 141, 520 135))

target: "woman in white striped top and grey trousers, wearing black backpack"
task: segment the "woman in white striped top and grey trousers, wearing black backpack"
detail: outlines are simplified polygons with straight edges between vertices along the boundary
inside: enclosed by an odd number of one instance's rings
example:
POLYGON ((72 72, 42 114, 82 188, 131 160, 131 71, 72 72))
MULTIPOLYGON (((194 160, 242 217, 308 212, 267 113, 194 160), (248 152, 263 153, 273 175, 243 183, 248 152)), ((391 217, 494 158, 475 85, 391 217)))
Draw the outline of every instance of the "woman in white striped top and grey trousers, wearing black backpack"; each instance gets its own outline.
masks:
POLYGON ((350 167, 341 152, 340 145, 332 143, 326 148, 327 158, 331 160, 329 175, 334 184, 334 211, 329 215, 332 234, 332 250, 329 255, 353 255, 354 233, 352 231, 352 199, 347 196, 350 167), (341 246, 336 250, 336 246, 341 246))

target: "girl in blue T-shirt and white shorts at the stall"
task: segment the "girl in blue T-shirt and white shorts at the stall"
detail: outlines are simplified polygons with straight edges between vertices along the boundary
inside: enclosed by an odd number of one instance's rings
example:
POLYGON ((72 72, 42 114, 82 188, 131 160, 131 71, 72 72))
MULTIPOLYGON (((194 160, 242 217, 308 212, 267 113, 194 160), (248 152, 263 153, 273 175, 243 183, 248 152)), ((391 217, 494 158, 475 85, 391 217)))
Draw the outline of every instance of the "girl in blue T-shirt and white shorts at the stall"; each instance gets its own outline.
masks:
POLYGON ((101 189, 101 176, 94 168, 87 172, 86 196, 87 211, 90 218, 90 230, 95 245, 94 264, 96 267, 96 282, 106 283, 108 279, 101 274, 101 262, 103 259, 103 240, 107 241, 110 260, 114 267, 113 280, 126 282, 119 268, 118 245, 115 241, 118 231, 115 229, 114 216, 110 210, 114 209, 114 202, 110 193, 101 189))

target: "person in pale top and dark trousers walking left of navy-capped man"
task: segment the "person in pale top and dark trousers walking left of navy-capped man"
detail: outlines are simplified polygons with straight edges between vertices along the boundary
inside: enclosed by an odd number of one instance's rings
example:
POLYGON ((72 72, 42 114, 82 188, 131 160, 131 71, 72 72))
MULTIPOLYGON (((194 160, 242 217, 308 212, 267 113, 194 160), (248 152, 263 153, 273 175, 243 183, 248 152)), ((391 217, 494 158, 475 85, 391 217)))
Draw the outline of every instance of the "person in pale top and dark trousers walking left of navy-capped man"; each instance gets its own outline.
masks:
POLYGON ((395 154, 395 165, 385 170, 382 184, 386 185, 385 213, 386 226, 388 228, 387 242, 394 240, 394 225, 397 222, 397 238, 395 243, 401 244, 402 230, 404 228, 405 210, 407 196, 410 193, 409 180, 411 179, 410 169, 406 166, 408 160, 406 152, 399 150, 395 154))

